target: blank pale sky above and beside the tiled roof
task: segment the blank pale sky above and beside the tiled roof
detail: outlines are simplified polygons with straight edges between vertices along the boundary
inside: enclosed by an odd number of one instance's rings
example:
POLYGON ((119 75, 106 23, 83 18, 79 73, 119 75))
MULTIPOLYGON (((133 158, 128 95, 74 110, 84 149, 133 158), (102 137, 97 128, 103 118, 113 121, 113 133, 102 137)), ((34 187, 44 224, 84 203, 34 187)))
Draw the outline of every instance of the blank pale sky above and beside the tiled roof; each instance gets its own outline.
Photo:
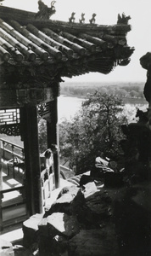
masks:
MULTIPOLYGON (((4 0, 3 5, 16 9, 25 9, 32 12, 38 10, 38 0, 4 0)), ((50 6, 51 0, 43 0, 50 6)), ((127 34, 127 43, 134 46, 135 51, 131 55, 131 62, 126 67, 115 67, 115 70, 107 75, 101 73, 89 73, 80 77, 65 79, 65 81, 143 81, 146 82, 146 70, 139 63, 140 57, 151 51, 151 0, 56 0, 56 14, 52 20, 68 21, 70 14, 76 12, 76 22, 79 22, 81 13, 85 13, 86 23, 96 13, 98 25, 114 25, 117 15, 123 12, 131 16, 129 24, 131 32, 127 34)))

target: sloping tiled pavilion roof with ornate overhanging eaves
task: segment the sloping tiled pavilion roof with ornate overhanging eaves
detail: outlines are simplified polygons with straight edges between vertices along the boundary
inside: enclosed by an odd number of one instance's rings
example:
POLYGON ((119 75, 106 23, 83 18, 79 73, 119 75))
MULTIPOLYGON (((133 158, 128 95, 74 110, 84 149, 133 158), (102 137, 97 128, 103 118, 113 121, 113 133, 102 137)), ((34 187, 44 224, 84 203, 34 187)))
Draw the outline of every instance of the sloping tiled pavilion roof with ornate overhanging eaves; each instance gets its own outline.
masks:
POLYGON ((134 50, 126 41, 130 31, 122 20, 113 26, 37 20, 36 13, 0 6, 0 75, 15 72, 20 80, 21 72, 22 78, 23 73, 42 76, 43 69, 48 79, 108 74, 129 63, 134 50))

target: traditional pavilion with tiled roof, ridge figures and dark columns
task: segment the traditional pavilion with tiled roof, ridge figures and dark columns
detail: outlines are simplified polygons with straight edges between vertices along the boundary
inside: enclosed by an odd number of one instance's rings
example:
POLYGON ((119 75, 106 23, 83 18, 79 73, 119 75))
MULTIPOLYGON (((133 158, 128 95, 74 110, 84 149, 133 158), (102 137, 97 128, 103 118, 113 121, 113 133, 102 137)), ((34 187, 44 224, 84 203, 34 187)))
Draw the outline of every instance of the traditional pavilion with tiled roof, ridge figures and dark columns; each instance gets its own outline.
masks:
MULTIPOLYGON (((94 17, 90 23, 76 23, 74 15, 68 22, 49 17, 46 6, 37 14, 0 6, 0 132, 24 142, 30 216, 42 212, 37 116, 47 120, 48 148, 57 145, 59 83, 85 73, 108 74, 128 65, 134 51, 126 40, 129 16, 118 15, 117 24, 106 26, 96 24, 94 17), (19 113, 4 119, 12 109, 19 113)), ((53 162, 58 188, 59 149, 53 162)))

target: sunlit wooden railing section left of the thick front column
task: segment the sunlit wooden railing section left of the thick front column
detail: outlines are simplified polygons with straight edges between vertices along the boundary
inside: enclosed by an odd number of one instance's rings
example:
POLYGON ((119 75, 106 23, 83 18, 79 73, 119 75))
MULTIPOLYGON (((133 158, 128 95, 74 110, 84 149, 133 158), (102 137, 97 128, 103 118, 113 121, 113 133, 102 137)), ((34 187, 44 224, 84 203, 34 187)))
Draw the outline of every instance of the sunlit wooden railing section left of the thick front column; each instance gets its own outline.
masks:
POLYGON ((24 221, 27 218, 27 207, 24 186, 24 148, 0 139, 1 178, 0 188, 0 229, 24 221), (15 184, 11 184, 12 177, 15 184), (16 185, 18 183, 18 185, 16 185), (8 187, 6 189, 6 187, 8 187))

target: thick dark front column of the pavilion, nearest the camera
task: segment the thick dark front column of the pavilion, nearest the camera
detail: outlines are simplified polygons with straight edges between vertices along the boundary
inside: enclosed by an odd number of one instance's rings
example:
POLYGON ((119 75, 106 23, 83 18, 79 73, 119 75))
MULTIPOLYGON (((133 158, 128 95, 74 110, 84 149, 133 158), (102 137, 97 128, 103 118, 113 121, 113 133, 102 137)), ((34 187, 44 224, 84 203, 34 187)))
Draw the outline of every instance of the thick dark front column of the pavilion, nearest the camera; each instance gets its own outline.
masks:
POLYGON ((25 148, 25 189, 30 215, 42 212, 42 186, 36 106, 20 108, 20 122, 25 148))

